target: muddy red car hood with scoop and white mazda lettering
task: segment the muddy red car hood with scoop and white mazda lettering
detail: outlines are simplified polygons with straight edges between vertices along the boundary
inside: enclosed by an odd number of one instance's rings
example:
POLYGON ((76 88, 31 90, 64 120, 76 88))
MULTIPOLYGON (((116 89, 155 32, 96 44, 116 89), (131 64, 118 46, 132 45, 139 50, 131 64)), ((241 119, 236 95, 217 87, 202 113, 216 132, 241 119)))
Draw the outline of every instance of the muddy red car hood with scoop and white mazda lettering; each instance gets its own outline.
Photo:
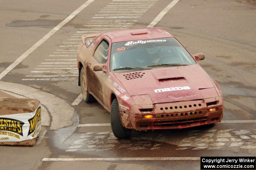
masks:
POLYGON ((217 96, 211 78, 199 64, 114 75, 130 96, 148 94, 155 104, 217 96))

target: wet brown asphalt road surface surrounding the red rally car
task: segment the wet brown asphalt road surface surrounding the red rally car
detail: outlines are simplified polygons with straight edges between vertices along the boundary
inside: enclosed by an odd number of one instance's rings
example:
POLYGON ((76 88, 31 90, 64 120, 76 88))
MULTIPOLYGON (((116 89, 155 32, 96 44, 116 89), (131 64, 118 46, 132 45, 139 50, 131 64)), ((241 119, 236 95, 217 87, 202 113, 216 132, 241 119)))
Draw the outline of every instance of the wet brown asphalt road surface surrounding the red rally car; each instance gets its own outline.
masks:
MULTIPOLYGON (((76 48, 85 32, 146 27, 171 1, 95 0, 33 51, 2 81, 40 88, 70 104, 80 94, 77 85, 76 48), (132 2, 135 3, 135 2, 132 2), (139 4, 142 3, 142 4, 139 4), (126 4, 127 5, 127 4, 126 4), (110 11, 117 10, 115 15, 110 11), (121 13, 121 11, 125 11, 121 13), (113 18, 116 16, 117 18, 113 18), (61 63, 56 63, 56 61, 61 63)), ((0 72, 76 10, 85 1, 0 2, 0 72)), ((254 1, 180 0, 155 27, 171 32, 193 54, 204 53, 199 64, 219 83, 224 97, 223 120, 256 120, 256 3, 254 1)), ((109 123, 110 115, 98 103, 74 106, 79 124, 109 123)), ((60 114, 64 114, 64 110, 60 114)), ((92 157, 200 157, 255 156, 255 123, 218 123, 213 128, 133 131, 117 140, 110 126, 77 127, 58 144, 55 131, 34 147, 0 147, 14 169, 199 169, 199 161, 70 161, 43 162, 48 158, 92 157), (26 153, 26 154, 25 154, 26 153)))

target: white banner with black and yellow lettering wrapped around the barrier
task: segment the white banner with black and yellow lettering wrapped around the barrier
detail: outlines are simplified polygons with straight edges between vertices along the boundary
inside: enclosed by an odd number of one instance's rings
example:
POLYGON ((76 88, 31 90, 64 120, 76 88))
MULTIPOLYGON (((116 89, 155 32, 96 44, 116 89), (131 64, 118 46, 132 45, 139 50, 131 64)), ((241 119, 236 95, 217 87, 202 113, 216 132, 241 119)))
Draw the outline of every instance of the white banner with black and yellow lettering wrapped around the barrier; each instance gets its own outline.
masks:
POLYGON ((0 115, 0 142, 37 138, 41 130, 41 104, 34 112, 0 115))

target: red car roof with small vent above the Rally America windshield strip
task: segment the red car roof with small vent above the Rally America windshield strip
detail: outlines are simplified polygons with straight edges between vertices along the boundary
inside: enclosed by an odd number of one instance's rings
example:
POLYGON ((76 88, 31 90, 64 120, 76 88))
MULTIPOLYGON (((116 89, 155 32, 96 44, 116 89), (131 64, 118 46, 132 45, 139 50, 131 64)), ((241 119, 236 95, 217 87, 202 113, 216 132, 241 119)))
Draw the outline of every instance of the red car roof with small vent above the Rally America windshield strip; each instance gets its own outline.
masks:
POLYGON ((124 42, 124 41, 135 41, 144 39, 157 39, 173 37, 169 32, 161 28, 136 28, 136 29, 123 29, 112 32, 103 33, 108 36, 112 43, 124 42))

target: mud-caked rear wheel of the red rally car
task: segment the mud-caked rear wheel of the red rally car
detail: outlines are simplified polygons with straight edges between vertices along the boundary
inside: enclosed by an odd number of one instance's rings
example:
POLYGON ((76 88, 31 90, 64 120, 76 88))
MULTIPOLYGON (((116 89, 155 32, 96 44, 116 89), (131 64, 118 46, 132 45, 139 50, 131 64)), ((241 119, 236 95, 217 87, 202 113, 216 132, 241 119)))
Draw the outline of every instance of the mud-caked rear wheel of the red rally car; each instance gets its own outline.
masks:
POLYGON ((84 68, 82 67, 81 73, 80 73, 80 83, 81 83, 81 90, 83 95, 83 100, 86 103, 92 103, 95 102, 95 98, 92 96, 92 94, 89 94, 87 83, 86 83, 86 75, 84 73, 84 68))

